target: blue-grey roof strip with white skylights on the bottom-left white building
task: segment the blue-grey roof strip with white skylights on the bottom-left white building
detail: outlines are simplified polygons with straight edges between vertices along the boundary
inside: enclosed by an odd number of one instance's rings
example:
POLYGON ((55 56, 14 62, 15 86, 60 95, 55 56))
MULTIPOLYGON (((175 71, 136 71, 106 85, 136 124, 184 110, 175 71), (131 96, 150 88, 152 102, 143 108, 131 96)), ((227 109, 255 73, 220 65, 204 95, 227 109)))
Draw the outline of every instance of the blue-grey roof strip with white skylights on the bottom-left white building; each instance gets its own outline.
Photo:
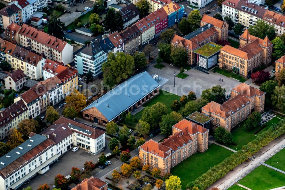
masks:
POLYGON ((4 156, 0 158, 0 169, 5 168, 7 165, 11 164, 13 161, 17 160, 19 157, 23 156, 28 151, 32 150, 34 147, 44 142, 47 137, 35 134, 4 156))

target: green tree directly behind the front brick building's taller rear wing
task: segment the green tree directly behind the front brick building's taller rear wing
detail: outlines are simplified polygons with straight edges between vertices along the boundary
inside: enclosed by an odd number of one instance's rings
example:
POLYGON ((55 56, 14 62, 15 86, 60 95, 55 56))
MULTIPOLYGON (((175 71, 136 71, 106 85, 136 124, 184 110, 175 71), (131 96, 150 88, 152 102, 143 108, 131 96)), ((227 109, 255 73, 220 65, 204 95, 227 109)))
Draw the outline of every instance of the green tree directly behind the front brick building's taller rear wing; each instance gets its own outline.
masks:
POLYGON ((183 119, 180 113, 172 111, 170 114, 162 116, 160 126, 160 134, 164 134, 166 136, 172 134, 172 126, 183 119))

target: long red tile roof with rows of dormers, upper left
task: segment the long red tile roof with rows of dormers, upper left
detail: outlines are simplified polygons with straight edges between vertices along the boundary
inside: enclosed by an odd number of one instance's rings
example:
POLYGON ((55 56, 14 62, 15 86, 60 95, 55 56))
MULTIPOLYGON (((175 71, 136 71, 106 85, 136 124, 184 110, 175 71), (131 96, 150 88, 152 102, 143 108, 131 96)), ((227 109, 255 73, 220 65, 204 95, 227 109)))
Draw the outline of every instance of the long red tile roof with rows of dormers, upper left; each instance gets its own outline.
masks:
POLYGON ((62 39, 58 39, 26 24, 22 25, 20 34, 50 48, 58 50, 59 52, 62 52, 64 47, 67 45, 67 42, 63 41, 62 39))

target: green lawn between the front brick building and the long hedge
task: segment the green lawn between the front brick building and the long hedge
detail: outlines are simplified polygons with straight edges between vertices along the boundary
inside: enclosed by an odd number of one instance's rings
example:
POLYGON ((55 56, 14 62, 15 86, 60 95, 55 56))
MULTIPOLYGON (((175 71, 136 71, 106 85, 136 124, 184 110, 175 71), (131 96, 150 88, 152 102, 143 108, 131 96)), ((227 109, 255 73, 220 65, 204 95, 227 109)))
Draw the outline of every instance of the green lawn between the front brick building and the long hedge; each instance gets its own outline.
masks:
POLYGON ((172 175, 180 177, 182 189, 186 184, 208 171, 210 167, 219 164, 223 159, 233 154, 232 151, 219 145, 211 144, 204 152, 197 152, 171 169, 172 175))

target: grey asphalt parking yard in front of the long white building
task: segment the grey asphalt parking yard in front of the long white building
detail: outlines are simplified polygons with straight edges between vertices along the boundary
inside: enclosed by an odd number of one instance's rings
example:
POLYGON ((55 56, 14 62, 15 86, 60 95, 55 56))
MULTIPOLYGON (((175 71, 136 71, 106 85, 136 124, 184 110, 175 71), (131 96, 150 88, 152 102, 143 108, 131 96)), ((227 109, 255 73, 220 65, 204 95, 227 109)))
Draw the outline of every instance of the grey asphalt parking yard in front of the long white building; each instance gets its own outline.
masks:
MULTIPOLYGON (((109 143, 109 140, 106 139, 106 145, 109 143)), ((105 150, 103 151, 105 154, 107 154, 109 151, 108 147, 105 147, 105 150)), ((47 183, 48 186, 52 189, 54 185, 54 177, 57 174, 61 174, 64 176, 70 175, 71 168, 72 167, 78 167, 79 169, 84 168, 85 161, 92 161, 93 163, 98 162, 98 158, 101 155, 99 153, 98 155, 93 155, 91 153, 88 153, 88 151, 84 149, 79 149, 76 152, 72 152, 71 149, 64 153, 64 155, 54 164, 50 165, 50 170, 48 170, 43 175, 36 175, 34 178, 32 178, 29 183, 22 185, 19 189, 26 188, 27 186, 32 187, 32 189, 38 189, 39 185, 42 185, 44 183, 47 183)), ((117 159, 111 158, 110 161, 116 162, 117 159)), ((111 166, 111 165, 110 165, 111 166)), ((105 168, 104 170, 107 170, 105 168)), ((101 169, 96 168, 92 174, 101 172, 101 169)))

